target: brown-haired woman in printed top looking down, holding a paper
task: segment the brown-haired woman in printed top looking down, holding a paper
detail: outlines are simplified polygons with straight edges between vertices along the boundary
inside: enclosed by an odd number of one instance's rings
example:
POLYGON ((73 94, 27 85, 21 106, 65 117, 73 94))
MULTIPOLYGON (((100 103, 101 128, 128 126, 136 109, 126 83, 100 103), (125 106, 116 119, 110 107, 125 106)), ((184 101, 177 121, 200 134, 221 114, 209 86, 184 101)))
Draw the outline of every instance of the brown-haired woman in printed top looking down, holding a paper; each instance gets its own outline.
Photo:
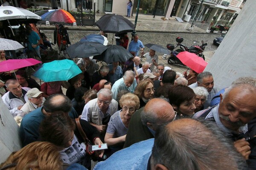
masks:
MULTIPOLYGON (((96 127, 85 120, 79 119, 79 121, 87 138, 93 144, 101 145, 100 133, 96 127)), ((39 132, 43 141, 51 142, 59 148, 64 163, 79 163, 90 169, 90 160, 85 157, 86 146, 81 144, 85 141, 79 133, 74 119, 71 119, 62 111, 56 111, 41 122, 39 132)), ((104 150, 100 150, 98 153, 101 158, 104 150)))

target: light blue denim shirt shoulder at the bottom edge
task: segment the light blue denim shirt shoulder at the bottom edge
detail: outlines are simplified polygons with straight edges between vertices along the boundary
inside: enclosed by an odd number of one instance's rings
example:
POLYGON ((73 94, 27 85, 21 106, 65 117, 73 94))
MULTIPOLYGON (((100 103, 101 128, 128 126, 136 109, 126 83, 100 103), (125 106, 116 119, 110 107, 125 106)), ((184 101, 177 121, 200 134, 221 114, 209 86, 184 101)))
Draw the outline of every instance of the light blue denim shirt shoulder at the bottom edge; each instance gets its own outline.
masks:
POLYGON ((153 144, 154 138, 119 150, 107 160, 96 164, 93 170, 146 170, 153 144))

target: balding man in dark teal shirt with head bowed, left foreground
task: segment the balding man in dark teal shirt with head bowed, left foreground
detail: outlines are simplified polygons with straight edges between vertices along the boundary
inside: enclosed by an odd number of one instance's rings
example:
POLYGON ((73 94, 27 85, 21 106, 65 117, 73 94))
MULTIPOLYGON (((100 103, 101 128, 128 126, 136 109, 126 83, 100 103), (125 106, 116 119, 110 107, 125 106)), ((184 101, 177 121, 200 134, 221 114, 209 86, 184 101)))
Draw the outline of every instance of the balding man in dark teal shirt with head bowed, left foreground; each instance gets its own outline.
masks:
POLYGON ((49 96, 44 102, 43 107, 37 108, 35 111, 32 111, 23 117, 20 124, 20 138, 23 147, 38 140, 39 125, 46 116, 49 116, 55 111, 63 111, 72 119, 78 117, 67 96, 64 96, 63 94, 49 96))

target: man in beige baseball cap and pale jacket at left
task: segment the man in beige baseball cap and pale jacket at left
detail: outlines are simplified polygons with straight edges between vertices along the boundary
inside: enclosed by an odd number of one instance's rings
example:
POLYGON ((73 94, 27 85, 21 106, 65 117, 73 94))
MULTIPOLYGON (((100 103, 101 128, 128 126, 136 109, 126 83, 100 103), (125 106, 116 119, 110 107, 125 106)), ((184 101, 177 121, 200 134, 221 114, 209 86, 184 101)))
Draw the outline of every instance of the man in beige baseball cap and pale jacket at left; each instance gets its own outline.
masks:
POLYGON ((29 101, 22 106, 17 116, 24 117, 29 112, 34 111, 37 108, 40 108, 45 102, 45 98, 42 95, 43 92, 39 91, 37 88, 30 89, 26 95, 28 96, 29 101))

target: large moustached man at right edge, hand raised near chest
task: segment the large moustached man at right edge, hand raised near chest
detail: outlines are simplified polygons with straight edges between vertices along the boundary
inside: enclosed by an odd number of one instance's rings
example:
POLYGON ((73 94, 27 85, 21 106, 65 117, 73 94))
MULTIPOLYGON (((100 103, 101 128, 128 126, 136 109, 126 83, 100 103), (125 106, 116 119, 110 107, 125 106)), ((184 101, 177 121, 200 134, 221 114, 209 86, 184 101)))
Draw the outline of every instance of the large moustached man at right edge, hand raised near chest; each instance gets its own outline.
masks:
MULTIPOLYGON (((212 108, 199 111, 193 117, 211 119, 216 122, 231 139, 236 149, 245 159, 248 159, 251 150, 249 136, 255 136, 248 130, 247 123, 256 117, 256 79, 231 85, 224 94, 220 94, 221 102, 212 108)), ((250 158, 249 158, 250 159, 250 158)))

